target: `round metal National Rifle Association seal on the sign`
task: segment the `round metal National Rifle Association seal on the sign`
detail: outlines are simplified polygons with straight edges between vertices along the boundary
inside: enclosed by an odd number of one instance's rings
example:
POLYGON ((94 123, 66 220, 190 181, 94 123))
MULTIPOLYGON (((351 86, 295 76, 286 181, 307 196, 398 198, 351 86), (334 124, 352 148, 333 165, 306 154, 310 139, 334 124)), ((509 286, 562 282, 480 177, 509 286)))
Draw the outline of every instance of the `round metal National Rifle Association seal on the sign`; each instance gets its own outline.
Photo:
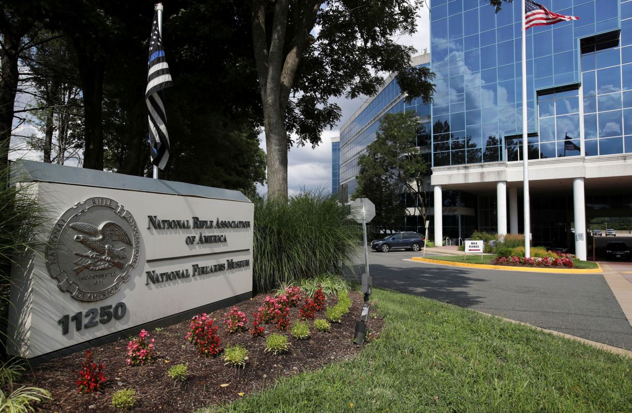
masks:
POLYGON ((138 225, 118 202, 89 198, 64 212, 46 247, 46 265, 61 291, 81 301, 107 298, 130 279, 140 255, 138 225))

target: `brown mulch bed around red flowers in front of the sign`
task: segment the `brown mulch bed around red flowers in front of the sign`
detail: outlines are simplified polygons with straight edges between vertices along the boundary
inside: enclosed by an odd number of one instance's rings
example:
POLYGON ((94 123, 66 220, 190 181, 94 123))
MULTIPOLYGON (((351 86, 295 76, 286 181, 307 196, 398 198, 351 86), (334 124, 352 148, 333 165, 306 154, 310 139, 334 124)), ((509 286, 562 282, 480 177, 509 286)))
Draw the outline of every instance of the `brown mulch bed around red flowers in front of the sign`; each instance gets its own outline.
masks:
MULTIPOLYGON (((85 351, 54 359, 37 366, 23 376, 20 385, 46 388, 52 393, 52 402, 40 404, 42 412, 118 412, 111 406, 112 394, 121 388, 133 388, 138 395, 132 411, 142 412, 191 412, 210 404, 231 402, 243 395, 261 392, 273 387, 279 378, 312 371, 334 361, 349 359, 362 347, 353 344, 356 320, 362 310, 362 294, 349 293, 353 301, 351 311, 341 323, 332 323, 331 332, 319 332, 310 323, 312 336, 307 340, 295 339, 289 329, 282 332, 289 338, 290 348, 286 354, 275 356, 264 352, 265 337, 278 332, 274 325, 265 325, 264 335, 252 337, 247 331, 228 333, 222 319, 227 309, 213 313, 215 325, 219 325, 222 348, 240 344, 248 349, 246 368, 235 369, 224 366, 220 356, 203 358, 198 356, 185 338, 189 321, 165 327, 161 331, 150 330, 150 338, 155 339, 159 356, 144 366, 128 366, 125 362, 127 340, 118 340, 104 346, 92 348, 95 363, 106 365, 107 378, 103 393, 82 394, 75 386, 77 371, 85 358, 85 351), (175 364, 188 364, 188 376, 184 383, 176 383, 167 370, 175 364), (221 385, 226 385, 222 387, 221 385)), ((252 325, 252 314, 262 305, 265 295, 260 294, 238 305, 252 325)), ((328 297, 327 306, 335 305, 337 298, 328 297)), ((372 316, 375 313, 372 312, 372 316)), ((299 318, 298 308, 291 308, 291 325, 299 318)), ((317 313, 324 318, 324 312, 317 313)), ((290 327, 291 327, 290 325, 290 327)), ((384 326, 380 318, 370 318, 372 334, 378 335, 384 326)))

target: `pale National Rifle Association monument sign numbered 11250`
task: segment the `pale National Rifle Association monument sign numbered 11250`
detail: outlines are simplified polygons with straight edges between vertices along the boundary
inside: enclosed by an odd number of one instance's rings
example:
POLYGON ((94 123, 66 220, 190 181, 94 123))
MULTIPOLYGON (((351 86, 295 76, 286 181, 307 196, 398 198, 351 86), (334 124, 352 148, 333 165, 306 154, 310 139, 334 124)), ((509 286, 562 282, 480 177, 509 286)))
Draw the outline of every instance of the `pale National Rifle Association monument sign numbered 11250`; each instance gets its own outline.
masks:
POLYGON ((69 354, 252 296, 240 192, 32 161, 13 175, 49 215, 11 274, 11 354, 69 354))

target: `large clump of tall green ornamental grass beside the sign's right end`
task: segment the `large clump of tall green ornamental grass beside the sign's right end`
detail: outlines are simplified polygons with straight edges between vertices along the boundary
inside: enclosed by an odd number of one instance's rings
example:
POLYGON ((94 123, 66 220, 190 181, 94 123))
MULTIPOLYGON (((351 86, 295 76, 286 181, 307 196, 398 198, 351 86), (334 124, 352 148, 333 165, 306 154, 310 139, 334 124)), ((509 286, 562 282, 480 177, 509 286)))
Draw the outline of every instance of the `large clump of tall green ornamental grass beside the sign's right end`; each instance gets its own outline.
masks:
MULTIPOLYGON (((353 265, 362 230, 331 195, 302 192, 288 202, 255 203, 253 284, 269 291, 353 265)), ((299 284, 300 285, 300 284, 299 284)))

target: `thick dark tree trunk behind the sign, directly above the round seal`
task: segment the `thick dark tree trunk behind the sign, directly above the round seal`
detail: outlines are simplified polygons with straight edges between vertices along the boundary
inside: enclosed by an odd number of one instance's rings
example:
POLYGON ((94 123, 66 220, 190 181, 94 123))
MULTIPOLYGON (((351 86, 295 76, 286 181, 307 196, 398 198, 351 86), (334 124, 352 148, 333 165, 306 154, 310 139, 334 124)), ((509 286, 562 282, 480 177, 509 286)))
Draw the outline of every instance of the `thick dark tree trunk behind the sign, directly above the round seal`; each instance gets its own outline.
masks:
POLYGON ((85 127, 83 168, 102 171, 104 58, 98 51, 83 47, 82 41, 76 37, 73 37, 73 44, 83 90, 83 125, 85 127))

